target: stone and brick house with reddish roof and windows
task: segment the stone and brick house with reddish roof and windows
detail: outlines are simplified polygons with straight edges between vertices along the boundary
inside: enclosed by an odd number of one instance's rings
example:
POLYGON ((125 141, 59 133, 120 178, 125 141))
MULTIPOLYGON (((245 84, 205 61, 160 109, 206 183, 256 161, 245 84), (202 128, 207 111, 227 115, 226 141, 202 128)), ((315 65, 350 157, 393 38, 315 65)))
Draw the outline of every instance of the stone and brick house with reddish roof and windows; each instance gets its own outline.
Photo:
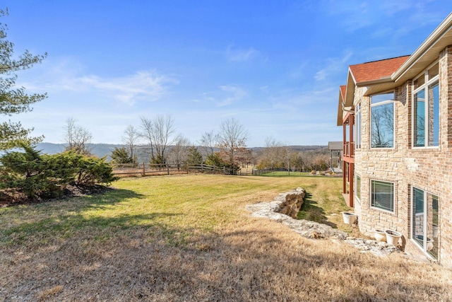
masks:
POLYGON ((351 65, 338 126, 359 230, 452 267, 452 13, 411 55, 351 65))

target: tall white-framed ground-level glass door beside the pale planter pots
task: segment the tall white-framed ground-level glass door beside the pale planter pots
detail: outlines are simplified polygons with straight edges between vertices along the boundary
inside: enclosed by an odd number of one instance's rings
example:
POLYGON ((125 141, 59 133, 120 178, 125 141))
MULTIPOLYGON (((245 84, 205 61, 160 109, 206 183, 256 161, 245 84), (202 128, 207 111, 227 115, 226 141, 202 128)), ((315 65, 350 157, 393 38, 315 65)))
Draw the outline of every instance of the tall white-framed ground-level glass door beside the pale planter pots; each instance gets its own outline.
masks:
POLYGON ((425 253, 438 259, 439 198, 412 187, 411 238, 425 253))

